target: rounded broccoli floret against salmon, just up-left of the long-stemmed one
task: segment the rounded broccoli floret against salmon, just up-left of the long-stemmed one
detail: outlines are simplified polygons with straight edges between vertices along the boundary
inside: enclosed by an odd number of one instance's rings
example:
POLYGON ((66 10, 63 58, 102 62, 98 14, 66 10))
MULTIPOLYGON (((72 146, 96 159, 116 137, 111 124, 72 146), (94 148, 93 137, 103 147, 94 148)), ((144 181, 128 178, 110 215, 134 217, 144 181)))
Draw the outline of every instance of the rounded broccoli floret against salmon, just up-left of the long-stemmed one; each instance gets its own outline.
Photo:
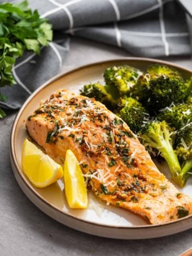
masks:
POLYGON ((137 133, 141 130, 143 121, 146 122, 150 118, 147 110, 136 99, 124 96, 120 99, 119 116, 124 120, 130 129, 137 133))

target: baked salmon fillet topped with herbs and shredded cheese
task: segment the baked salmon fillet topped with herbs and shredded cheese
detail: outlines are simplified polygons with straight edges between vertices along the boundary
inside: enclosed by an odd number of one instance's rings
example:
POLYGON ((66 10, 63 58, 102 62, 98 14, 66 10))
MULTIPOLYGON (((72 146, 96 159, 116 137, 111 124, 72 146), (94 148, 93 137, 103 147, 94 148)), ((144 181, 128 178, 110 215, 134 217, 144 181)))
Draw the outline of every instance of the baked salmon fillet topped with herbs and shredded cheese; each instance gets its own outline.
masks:
POLYGON ((159 172, 129 126, 93 98, 57 91, 29 116, 26 128, 59 164, 72 150, 88 186, 108 204, 152 224, 192 214, 192 199, 159 172))

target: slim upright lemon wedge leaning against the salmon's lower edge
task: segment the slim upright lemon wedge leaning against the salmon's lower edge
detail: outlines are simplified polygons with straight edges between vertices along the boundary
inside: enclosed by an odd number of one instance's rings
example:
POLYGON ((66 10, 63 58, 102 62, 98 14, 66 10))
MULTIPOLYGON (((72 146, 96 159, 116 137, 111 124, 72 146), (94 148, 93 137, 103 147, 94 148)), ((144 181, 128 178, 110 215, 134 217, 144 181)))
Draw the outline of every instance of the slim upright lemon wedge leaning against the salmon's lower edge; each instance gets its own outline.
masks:
POLYGON ((87 188, 81 167, 71 150, 67 150, 64 164, 65 194, 68 206, 83 209, 88 205, 87 188))

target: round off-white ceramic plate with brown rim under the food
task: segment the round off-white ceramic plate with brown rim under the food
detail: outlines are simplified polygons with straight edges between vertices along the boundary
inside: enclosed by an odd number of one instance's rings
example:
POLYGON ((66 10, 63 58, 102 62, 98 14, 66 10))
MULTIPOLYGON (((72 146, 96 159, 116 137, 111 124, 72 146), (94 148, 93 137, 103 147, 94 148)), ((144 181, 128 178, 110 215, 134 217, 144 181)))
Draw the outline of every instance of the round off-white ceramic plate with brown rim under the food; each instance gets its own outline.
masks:
MULTIPOLYGON (((104 202, 95 199, 92 193, 89 194, 88 209, 70 210, 65 199, 62 180, 58 180, 55 184, 43 189, 35 188, 26 179, 21 168, 22 144, 24 138, 28 136, 25 129, 25 120, 38 108, 41 100, 49 98, 57 89, 66 88, 73 92, 79 92, 79 88, 86 83, 94 81, 103 82, 102 74, 109 66, 127 64, 144 71, 148 65, 154 62, 164 63, 165 65, 177 68, 183 74, 184 78, 189 78, 192 75, 190 70, 173 65, 172 63, 147 58, 124 58, 121 60, 94 63, 61 74, 40 86, 26 100, 15 118, 12 127, 10 160, 15 178, 20 187, 26 196, 44 211, 45 214, 76 230, 97 236, 120 239, 161 237, 192 227, 192 216, 187 216, 164 225, 147 225, 140 217, 124 209, 110 205, 107 206, 104 202)), ((169 178, 169 172, 166 166, 159 166, 159 169, 163 170, 167 178, 169 178)), ((192 196, 191 178, 182 191, 192 196)))

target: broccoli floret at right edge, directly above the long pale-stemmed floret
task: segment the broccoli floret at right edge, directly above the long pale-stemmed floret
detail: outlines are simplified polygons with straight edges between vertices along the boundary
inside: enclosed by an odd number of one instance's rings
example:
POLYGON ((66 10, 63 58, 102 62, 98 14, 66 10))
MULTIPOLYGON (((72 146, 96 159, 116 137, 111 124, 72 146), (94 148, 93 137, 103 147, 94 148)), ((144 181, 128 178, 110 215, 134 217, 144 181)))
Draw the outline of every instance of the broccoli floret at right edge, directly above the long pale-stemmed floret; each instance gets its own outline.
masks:
POLYGON ((175 127, 176 130, 182 128, 189 122, 192 122, 192 105, 179 104, 172 107, 166 107, 160 110, 157 116, 159 121, 165 120, 170 126, 175 127))

